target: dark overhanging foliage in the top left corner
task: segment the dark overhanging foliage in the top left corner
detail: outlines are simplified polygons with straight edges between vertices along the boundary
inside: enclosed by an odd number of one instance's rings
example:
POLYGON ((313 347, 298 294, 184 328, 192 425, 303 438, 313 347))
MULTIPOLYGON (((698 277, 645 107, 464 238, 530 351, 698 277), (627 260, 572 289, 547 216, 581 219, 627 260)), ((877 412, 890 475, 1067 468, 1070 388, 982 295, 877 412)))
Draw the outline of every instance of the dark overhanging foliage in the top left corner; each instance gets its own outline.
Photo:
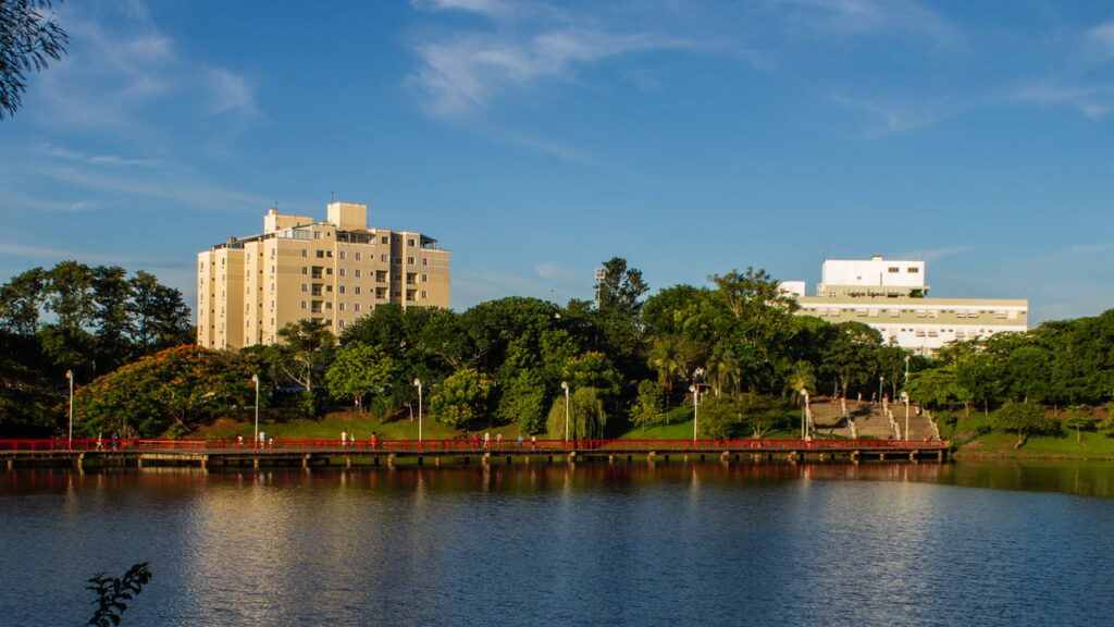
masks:
POLYGON ((26 73, 47 69, 66 55, 69 35, 50 0, 0 0, 0 119, 16 115, 27 90, 26 73))

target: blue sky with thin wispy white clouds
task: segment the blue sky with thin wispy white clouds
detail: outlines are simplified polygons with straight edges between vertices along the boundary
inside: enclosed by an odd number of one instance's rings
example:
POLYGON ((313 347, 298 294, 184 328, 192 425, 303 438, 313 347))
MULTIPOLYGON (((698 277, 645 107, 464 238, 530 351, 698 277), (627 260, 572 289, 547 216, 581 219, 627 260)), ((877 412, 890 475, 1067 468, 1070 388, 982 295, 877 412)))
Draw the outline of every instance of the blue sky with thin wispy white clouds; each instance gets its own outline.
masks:
POLYGON ((452 251, 452 307, 824 259, 931 295, 1114 306, 1114 4, 71 0, 0 120, 0 281, 74 259, 196 302, 266 210, 452 251))

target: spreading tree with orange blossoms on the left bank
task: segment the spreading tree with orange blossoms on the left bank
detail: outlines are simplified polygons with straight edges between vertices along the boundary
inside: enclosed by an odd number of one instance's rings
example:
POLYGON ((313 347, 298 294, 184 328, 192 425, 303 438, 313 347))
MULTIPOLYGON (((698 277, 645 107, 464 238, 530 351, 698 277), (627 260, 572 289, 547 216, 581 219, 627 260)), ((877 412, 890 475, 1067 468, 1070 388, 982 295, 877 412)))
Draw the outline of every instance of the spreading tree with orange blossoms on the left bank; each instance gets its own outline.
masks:
POLYGON ((224 355, 178 346, 96 378, 74 395, 76 426, 87 435, 152 437, 188 432, 201 422, 253 403, 252 373, 224 355))

